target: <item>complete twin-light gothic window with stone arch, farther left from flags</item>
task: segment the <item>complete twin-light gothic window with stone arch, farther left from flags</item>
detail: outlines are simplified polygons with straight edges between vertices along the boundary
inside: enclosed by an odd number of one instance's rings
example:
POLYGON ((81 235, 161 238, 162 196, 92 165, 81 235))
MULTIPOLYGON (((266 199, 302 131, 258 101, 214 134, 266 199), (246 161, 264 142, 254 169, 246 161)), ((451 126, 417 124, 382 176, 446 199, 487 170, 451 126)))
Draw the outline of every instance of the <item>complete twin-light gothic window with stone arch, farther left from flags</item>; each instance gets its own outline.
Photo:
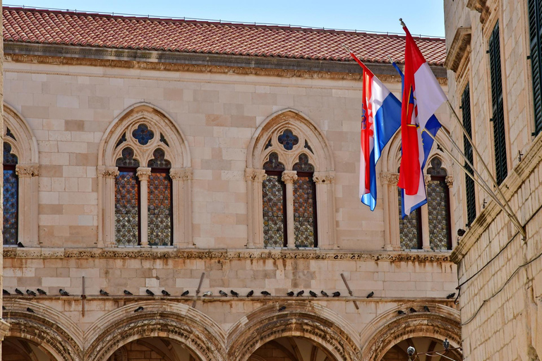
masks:
POLYGON ((99 152, 99 246, 191 246, 190 154, 173 121, 134 104, 109 126, 99 152))

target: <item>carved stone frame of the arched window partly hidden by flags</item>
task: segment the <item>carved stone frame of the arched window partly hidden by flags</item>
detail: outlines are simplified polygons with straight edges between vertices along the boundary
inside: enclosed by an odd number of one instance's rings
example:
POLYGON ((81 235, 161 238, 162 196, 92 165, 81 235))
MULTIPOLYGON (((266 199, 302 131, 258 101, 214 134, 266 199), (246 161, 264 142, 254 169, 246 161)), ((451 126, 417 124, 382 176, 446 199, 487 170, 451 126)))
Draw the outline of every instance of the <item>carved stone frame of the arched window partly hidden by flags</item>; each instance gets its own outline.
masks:
MULTIPOLYGON (((442 126, 442 130, 445 129, 442 126)), ((441 130, 441 132, 442 132, 441 130)), ((447 149, 451 149, 450 141, 443 137, 441 132, 437 133, 437 139, 445 145, 447 149)), ((454 185, 454 176, 452 175, 452 161, 447 157, 447 154, 440 152, 437 149, 436 143, 433 145, 429 157, 427 159, 426 168, 423 169, 426 184, 430 181, 431 176, 428 175, 427 169, 430 166, 430 161, 439 157, 442 161, 442 168, 447 170, 448 176, 446 177, 446 184, 450 191, 450 225, 452 229, 454 227, 454 212, 455 202, 452 197, 452 187, 454 185)), ((384 205, 384 250, 387 251, 401 251, 399 237, 399 195, 397 192, 397 183, 399 181, 399 165, 401 163, 401 134, 398 132, 390 141, 390 145, 384 148, 382 157, 382 172, 380 173, 380 184, 383 188, 383 205, 384 205)), ((422 248, 424 251, 431 251, 429 240, 429 214, 427 204, 421 206, 421 240, 422 248)), ((452 232, 452 250, 456 246, 456 240, 452 232)))

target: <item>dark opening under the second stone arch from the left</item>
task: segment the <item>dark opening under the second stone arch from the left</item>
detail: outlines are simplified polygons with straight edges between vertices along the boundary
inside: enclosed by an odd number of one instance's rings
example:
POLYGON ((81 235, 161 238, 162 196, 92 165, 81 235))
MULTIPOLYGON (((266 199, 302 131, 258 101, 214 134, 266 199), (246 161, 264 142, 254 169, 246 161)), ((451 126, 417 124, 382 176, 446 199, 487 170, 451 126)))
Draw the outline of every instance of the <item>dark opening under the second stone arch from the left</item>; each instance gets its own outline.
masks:
POLYGON ((147 337, 126 343, 107 361, 200 361, 199 357, 171 338, 147 337))

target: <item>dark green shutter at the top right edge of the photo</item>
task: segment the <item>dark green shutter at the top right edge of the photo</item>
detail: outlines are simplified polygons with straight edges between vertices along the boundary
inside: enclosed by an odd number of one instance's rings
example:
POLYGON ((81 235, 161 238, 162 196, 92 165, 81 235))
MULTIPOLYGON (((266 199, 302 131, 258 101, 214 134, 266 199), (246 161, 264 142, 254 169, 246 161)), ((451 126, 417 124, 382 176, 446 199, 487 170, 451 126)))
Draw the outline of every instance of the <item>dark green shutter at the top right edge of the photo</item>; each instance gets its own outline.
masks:
POLYGON ((533 79, 534 133, 542 130, 542 1, 529 0, 529 38, 533 79))

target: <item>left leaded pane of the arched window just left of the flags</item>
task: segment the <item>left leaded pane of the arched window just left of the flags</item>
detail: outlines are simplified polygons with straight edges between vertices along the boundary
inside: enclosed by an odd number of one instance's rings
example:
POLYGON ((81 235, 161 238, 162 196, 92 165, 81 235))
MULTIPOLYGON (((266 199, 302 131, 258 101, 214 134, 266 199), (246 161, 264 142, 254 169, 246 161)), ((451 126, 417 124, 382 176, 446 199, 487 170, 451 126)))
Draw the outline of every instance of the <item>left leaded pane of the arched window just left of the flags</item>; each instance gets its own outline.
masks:
POLYGON ((280 175, 267 174, 263 190, 263 245, 285 247, 284 183, 280 175))

